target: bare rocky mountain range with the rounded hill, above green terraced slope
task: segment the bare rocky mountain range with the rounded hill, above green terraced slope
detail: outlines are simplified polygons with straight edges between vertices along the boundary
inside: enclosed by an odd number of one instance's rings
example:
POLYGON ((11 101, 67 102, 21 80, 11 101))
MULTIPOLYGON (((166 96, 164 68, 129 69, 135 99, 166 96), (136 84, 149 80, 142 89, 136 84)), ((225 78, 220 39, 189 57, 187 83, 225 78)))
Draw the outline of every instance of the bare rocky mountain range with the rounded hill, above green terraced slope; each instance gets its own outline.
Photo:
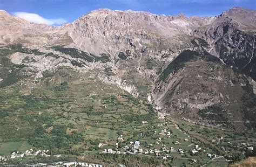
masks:
POLYGON ((238 7, 190 18, 99 9, 58 27, 1 10, 0 87, 29 93, 72 72, 173 117, 255 129, 255 37, 256 11, 238 7))

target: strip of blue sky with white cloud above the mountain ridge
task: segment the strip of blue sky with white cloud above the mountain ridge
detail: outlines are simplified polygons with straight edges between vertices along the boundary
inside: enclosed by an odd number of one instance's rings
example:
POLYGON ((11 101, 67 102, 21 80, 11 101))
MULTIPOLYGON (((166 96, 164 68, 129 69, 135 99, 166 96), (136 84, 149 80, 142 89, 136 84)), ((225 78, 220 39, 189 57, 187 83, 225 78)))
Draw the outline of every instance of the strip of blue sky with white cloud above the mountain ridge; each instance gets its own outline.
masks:
POLYGON ((99 8, 142 10, 157 15, 216 16, 240 6, 256 10, 256 0, 0 0, 0 9, 30 22, 61 25, 99 8))

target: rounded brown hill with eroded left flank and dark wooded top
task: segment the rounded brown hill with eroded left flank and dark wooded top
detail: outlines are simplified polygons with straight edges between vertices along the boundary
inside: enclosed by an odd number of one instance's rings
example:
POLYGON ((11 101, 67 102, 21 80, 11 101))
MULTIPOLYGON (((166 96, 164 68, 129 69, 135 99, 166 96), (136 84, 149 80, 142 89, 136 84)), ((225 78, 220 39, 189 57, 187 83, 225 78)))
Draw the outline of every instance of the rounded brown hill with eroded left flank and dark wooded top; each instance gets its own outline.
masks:
POLYGON ((207 52, 181 52, 159 76, 153 100, 173 117, 217 127, 255 128, 255 94, 247 78, 207 52))

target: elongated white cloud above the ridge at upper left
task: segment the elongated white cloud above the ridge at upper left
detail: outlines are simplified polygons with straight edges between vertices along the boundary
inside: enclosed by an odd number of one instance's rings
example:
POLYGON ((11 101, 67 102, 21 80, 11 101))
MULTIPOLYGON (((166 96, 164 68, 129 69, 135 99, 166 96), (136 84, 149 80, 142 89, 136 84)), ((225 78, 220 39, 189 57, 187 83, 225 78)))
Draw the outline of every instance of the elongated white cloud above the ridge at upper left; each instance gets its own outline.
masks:
POLYGON ((14 12, 14 15, 16 17, 21 17, 29 22, 38 23, 38 24, 60 25, 67 22, 63 18, 46 19, 46 18, 43 18, 42 16, 37 15, 36 13, 14 12))

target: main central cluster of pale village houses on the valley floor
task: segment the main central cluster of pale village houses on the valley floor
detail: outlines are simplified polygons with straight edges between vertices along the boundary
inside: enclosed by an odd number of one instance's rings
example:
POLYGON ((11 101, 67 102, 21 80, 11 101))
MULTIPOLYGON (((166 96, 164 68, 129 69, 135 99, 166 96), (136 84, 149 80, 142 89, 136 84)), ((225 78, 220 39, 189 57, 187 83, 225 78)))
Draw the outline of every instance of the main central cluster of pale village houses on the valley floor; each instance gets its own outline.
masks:
MULTIPOLYGON (((159 119, 164 119, 164 115, 159 116, 159 119)), ((142 121, 143 124, 147 123, 147 121, 142 121)), ((160 123, 157 126, 161 127, 161 126, 166 126, 167 122, 165 123, 160 123)), ((175 126, 176 129, 179 129, 179 127, 176 125, 175 126)), ((153 128, 153 127, 152 127, 153 128)), ((157 131, 154 131, 154 134, 157 134, 157 131)), ((180 156, 184 156, 185 153, 191 153, 191 155, 197 155, 198 152, 203 152, 204 154, 206 154, 209 158, 214 158, 215 154, 210 154, 208 152, 206 152, 206 150, 203 150, 201 147, 199 147, 199 145, 195 145, 194 148, 192 148, 190 151, 185 150, 185 149, 174 149, 173 147, 167 148, 165 144, 163 144, 162 138, 160 136, 164 136, 166 138, 170 138, 173 134, 171 133, 171 131, 168 130, 167 127, 164 127, 160 132, 159 132, 159 137, 157 138, 157 140, 154 143, 151 144, 147 144, 146 148, 143 147, 140 143, 140 141, 136 140, 136 141, 130 141, 128 143, 126 143, 126 145, 122 148, 119 147, 119 143, 118 142, 124 142, 124 136, 120 135, 117 139, 117 143, 115 143, 116 148, 106 148, 102 151, 102 154, 139 154, 139 155, 145 155, 145 156, 156 156, 156 157, 161 157, 163 159, 172 159, 173 157, 171 156, 172 152, 178 152, 180 154, 180 156), (154 145, 158 146, 157 148, 154 148, 154 145), (160 146, 160 149, 159 149, 160 146)), ((140 133, 140 136, 143 136, 143 133, 140 133)), ((183 142, 188 142, 189 139, 188 138, 184 138, 183 142)), ((174 141, 173 145, 180 145, 181 142, 180 141, 174 141)), ((98 147, 104 147, 107 144, 103 144, 103 143, 99 143, 98 147)), ((193 143, 188 145, 188 146, 192 146, 194 145, 193 143)), ((193 162, 197 162, 197 159, 192 159, 193 162)))

